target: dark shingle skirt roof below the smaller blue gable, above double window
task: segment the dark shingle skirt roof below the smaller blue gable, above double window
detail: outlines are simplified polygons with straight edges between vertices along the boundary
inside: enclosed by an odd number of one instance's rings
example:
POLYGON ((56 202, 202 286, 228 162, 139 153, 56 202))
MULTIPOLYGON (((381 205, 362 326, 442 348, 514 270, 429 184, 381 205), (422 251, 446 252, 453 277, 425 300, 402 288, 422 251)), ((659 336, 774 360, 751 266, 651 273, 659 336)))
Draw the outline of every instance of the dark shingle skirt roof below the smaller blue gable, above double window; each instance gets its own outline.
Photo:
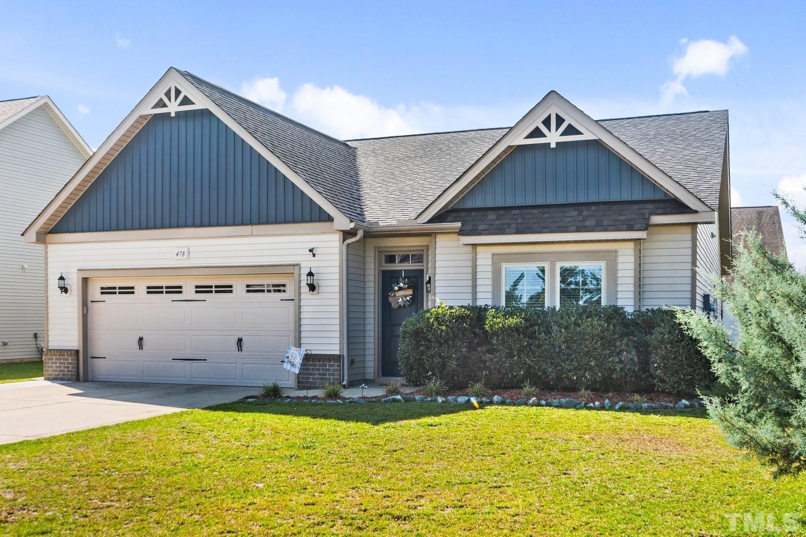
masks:
POLYGON ((652 214, 693 212, 676 199, 651 202, 562 203, 489 209, 451 209, 431 222, 459 222, 459 235, 574 231, 645 231, 652 214))

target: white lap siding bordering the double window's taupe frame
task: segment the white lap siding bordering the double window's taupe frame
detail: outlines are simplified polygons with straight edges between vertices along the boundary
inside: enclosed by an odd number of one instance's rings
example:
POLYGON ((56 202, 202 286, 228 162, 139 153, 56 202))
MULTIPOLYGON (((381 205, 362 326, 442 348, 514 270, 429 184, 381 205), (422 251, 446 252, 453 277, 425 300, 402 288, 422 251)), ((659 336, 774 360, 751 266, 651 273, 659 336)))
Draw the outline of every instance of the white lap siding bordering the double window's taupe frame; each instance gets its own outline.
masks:
MULTIPOLYGON (((616 251, 616 304, 635 306, 635 244, 631 240, 596 243, 491 244, 476 247, 476 304, 492 304, 492 256, 499 253, 616 251)), ((551 292, 554 292, 553 290, 551 292)))

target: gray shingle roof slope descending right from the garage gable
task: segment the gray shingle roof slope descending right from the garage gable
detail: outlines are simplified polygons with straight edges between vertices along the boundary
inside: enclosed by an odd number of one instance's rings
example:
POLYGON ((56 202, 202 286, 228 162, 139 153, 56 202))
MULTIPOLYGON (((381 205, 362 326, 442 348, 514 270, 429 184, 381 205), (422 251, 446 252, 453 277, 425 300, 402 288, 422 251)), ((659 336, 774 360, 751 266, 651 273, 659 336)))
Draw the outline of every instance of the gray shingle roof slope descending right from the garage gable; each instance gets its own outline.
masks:
POLYGON ((364 222, 355 148, 285 115, 179 71, 241 127, 354 222, 364 222))

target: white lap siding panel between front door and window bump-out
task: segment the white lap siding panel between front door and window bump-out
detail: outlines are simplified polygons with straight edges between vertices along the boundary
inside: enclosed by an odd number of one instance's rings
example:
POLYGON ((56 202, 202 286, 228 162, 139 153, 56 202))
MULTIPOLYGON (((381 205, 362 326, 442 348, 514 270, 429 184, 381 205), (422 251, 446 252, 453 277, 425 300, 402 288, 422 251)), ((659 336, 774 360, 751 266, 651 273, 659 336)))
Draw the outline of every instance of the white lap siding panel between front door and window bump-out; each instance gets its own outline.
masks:
POLYGON ((434 252, 434 297, 448 306, 472 302, 473 248, 459 243, 459 235, 437 235, 434 252))

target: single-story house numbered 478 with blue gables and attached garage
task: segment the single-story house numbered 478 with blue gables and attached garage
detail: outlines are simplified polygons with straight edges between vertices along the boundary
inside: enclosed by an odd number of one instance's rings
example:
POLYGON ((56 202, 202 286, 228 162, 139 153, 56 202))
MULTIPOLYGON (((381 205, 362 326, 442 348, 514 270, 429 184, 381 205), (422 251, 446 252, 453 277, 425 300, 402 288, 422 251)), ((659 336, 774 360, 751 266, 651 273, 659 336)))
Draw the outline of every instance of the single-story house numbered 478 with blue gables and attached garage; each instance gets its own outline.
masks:
POLYGON ((724 110, 595 121, 552 91, 514 127, 343 141, 168 69, 25 231, 46 375, 388 381, 437 302, 701 309, 729 187, 724 110))

